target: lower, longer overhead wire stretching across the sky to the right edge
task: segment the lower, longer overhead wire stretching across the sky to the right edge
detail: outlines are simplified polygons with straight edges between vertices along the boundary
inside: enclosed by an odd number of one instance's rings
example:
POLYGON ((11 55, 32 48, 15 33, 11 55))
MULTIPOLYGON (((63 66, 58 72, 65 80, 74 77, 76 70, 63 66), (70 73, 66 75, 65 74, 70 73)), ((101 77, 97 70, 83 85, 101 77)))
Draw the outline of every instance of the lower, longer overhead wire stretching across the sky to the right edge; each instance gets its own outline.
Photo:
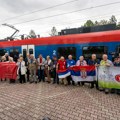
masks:
POLYGON ((102 5, 98 5, 98 6, 94 6, 94 7, 88 7, 88 8, 75 10, 75 11, 71 11, 71 12, 65 12, 65 13, 60 13, 60 14, 46 16, 46 17, 36 18, 36 19, 27 20, 27 21, 23 21, 23 22, 13 23, 13 25, 29 23, 29 22, 33 22, 33 21, 37 21, 37 20, 41 20, 41 19, 53 18, 53 17, 67 15, 67 14, 76 13, 76 12, 81 12, 81 11, 85 11, 85 10, 89 10, 89 9, 94 9, 94 8, 100 8, 100 7, 104 7, 104 6, 114 5, 114 4, 118 4, 118 3, 120 3, 120 1, 112 2, 112 3, 108 3, 108 4, 102 4, 102 5))

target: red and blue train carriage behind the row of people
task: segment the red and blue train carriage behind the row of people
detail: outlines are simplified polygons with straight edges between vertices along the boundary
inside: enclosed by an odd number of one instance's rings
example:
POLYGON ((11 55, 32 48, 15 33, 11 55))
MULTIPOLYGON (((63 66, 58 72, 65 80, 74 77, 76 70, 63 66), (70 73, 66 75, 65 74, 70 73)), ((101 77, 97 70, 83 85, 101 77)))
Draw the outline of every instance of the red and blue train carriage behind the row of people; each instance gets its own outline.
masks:
POLYGON ((105 53, 112 60, 114 55, 120 53, 120 30, 0 42, 0 56, 5 52, 12 57, 22 53, 24 58, 27 53, 35 57, 39 54, 44 57, 53 54, 67 57, 72 54, 74 59, 80 55, 88 59, 92 53, 101 59, 105 53))

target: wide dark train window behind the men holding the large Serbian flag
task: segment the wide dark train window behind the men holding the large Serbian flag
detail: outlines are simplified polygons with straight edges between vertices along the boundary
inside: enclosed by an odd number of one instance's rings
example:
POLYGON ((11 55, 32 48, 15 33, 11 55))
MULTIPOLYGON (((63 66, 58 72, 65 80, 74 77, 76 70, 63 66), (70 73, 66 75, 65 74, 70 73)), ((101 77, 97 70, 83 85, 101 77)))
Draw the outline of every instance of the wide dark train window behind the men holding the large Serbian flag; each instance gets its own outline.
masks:
POLYGON ((85 59, 90 59, 93 53, 97 55, 98 59, 101 59, 103 54, 107 54, 108 48, 106 46, 86 46, 82 51, 85 59))

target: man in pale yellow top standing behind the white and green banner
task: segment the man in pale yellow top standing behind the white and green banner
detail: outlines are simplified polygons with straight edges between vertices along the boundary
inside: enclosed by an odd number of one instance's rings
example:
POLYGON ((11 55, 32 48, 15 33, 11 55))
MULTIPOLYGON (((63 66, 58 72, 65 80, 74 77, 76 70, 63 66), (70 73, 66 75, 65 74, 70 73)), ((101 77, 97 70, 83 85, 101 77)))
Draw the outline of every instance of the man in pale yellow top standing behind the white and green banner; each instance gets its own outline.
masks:
MULTIPOLYGON (((103 54, 103 60, 101 60, 100 65, 101 66, 106 66, 106 67, 110 67, 113 66, 113 63, 108 60, 108 56, 106 54, 103 54)), ((108 94, 109 93, 109 89, 105 88, 105 93, 108 94)))

